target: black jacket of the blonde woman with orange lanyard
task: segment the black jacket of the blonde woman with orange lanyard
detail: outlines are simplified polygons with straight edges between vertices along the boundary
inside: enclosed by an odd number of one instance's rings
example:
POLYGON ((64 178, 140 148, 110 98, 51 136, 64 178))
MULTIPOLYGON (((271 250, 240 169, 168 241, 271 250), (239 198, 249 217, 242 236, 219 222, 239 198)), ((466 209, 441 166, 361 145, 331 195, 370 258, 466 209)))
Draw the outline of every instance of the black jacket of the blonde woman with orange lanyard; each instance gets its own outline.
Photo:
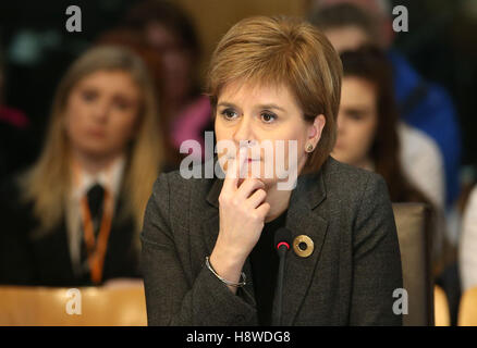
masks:
MULTIPOLYGON (((70 257, 65 217, 51 231, 36 235, 38 222, 33 204, 20 200, 12 182, 0 188, 0 284, 41 286, 88 286, 88 275, 76 275, 70 257)), ((139 277, 135 228, 131 216, 121 215, 124 196, 120 194, 102 281, 139 277)))

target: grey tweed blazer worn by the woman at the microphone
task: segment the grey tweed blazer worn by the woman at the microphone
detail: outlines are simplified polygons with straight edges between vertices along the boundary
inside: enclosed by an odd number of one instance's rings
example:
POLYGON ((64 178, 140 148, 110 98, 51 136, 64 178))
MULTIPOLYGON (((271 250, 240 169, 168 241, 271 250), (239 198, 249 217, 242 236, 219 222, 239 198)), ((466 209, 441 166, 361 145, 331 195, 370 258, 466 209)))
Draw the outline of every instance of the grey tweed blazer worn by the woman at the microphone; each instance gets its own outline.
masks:
MULTIPOLYGON (((179 172, 157 179, 142 233, 149 325, 257 325, 253 284, 234 295, 205 266, 222 184, 179 172)), ((298 177, 286 227, 315 249, 308 258, 286 254, 283 325, 402 325, 393 313, 401 256, 381 176, 328 158, 318 173, 298 177)), ((243 271, 250 281, 248 259, 243 271)))

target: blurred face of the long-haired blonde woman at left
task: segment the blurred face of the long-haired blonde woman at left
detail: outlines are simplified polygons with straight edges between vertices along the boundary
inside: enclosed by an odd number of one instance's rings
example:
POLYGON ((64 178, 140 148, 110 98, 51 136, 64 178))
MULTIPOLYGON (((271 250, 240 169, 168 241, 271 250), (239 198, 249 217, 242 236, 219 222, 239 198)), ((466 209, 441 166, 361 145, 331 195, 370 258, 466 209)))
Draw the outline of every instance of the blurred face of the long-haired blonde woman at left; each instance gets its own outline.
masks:
POLYGON ((139 88, 123 71, 98 71, 72 89, 65 109, 73 150, 109 158, 122 153, 137 128, 139 88))

